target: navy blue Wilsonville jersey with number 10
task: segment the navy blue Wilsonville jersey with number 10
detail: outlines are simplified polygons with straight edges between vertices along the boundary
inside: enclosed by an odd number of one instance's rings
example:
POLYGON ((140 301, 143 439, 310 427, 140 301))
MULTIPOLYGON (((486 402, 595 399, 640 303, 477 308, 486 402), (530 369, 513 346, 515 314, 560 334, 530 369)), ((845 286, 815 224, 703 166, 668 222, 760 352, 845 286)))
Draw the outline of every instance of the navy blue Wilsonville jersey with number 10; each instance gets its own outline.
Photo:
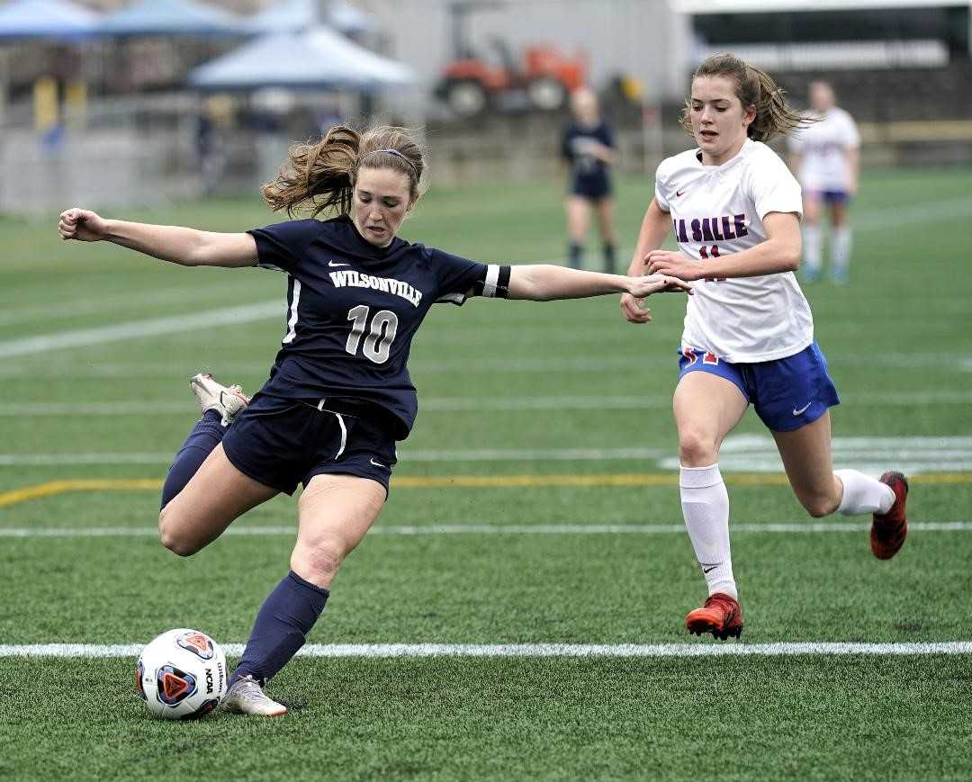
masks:
POLYGON ((371 402, 393 414, 403 439, 418 402, 406 363, 436 301, 504 296, 509 267, 478 263, 396 237, 366 242, 347 217, 257 228, 258 265, 288 274, 287 332, 261 392, 371 402))

